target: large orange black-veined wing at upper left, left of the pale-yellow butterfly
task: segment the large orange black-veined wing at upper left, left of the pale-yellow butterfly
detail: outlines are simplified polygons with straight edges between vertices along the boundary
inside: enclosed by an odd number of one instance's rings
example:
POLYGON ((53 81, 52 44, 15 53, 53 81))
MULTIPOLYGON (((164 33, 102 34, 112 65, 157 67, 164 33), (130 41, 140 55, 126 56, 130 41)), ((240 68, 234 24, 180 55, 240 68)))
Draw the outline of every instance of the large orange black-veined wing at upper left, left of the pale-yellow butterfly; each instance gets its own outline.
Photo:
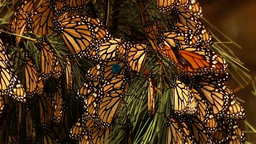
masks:
POLYGON ((94 30, 79 17, 53 19, 53 26, 75 58, 88 55, 90 48, 95 44, 94 30))

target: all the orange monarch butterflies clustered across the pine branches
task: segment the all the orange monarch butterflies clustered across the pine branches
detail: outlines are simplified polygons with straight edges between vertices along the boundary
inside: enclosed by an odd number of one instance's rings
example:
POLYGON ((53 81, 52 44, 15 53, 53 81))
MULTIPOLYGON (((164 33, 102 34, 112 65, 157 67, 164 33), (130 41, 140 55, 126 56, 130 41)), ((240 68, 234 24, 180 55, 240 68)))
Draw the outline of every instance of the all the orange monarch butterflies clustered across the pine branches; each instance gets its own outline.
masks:
MULTIPOLYGON (((20 46, 25 80, 18 79, 7 41, 0 39, 2 143, 111 141, 114 118, 125 104, 132 77, 142 74, 149 50, 148 44, 113 38, 100 19, 77 15, 88 3, 86 0, 23 0, 13 14, 8 31, 15 35, 15 46, 20 46), (41 37, 33 41, 35 52, 21 45, 26 40, 20 36, 26 32, 41 37), (47 38, 52 33, 60 36, 69 51, 63 65, 47 38), (63 93, 74 91, 72 59, 82 58, 96 64, 85 73, 77 90, 79 116, 73 124, 68 98, 63 93), (35 59, 39 59, 39 64, 35 59), (52 84, 49 81, 56 81, 54 92, 47 88, 52 84), (13 133, 15 129, 18 134, 13 133), (26 133, 22 133, 24 130, 26 133)), ((236 123, 246 118, 245 111, 226 86, 231 77, 225 59, 208 48, 213 39, 200 22, 199 3, 157 0, 157 8, 174 15, 170 32, 161 29, 156 21, 144 31, 154 52, 169 59, 179 74, 172 86, 173 106, 168 116, 166 142, 245 142, 245 135, 236 123)), ((154 73, 145 74, 151 116, 156 112, 154 73)))

